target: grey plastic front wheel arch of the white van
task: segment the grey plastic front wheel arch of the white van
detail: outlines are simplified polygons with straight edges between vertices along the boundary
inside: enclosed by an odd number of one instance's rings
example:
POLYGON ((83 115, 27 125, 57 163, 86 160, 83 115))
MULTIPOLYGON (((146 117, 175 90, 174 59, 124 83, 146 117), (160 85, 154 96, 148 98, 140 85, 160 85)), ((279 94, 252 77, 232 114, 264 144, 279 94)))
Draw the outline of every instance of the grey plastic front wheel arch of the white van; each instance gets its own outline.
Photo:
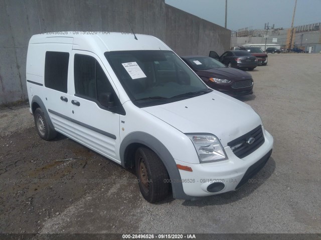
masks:
POLYGON ((156 137, 142 131, 129 133, 120 143, 119 155, 121 165, 125 168, 134 166, 134 152, 138 147, 145 146, 154 151, 164 163, 169 176, 172 180, 173 197, 178 199, 192 199, 183 189, 180 181, 181 174, 176 166, 174 157, 167 147, 156 137))

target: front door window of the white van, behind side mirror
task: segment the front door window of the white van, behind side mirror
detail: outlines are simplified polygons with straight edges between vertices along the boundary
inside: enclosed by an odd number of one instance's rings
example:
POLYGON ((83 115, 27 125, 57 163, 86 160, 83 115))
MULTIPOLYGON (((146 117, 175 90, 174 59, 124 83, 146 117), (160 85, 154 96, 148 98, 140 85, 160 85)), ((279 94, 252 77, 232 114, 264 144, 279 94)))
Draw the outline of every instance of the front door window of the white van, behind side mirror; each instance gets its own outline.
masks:
POLYGON ((80 97, 98 100, 102 93, 112 92, 112 86, 99 65, 91 56, 75 54, 75 93, 80 97))

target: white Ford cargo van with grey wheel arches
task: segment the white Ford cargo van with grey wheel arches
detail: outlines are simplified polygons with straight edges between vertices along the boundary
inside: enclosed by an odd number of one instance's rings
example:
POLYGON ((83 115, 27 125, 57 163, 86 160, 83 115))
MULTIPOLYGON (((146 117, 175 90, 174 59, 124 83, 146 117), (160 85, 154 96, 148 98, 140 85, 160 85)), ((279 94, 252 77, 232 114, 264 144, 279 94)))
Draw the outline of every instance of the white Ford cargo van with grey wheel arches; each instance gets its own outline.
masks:
POLYGON ((27 87, 41 138, 61 132, 135 168, 149 202, 236 190, 265 165, 273 137, 260 116, 210 89, 164 42, 83 33, 30 39, 27 87))

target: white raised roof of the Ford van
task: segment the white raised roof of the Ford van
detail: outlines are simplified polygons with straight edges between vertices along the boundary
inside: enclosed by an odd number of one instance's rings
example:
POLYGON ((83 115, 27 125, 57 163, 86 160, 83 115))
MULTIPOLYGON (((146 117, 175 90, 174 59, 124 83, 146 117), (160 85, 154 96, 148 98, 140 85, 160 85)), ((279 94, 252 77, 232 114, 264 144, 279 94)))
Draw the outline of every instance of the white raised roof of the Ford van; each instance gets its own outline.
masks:
POLYGON ((158 38, 131 32, 109 31, 58 31, 33 35, 29 44, 62 43, 73 44, 73 49, 98 51, 121 50, 171 50, 158 38))

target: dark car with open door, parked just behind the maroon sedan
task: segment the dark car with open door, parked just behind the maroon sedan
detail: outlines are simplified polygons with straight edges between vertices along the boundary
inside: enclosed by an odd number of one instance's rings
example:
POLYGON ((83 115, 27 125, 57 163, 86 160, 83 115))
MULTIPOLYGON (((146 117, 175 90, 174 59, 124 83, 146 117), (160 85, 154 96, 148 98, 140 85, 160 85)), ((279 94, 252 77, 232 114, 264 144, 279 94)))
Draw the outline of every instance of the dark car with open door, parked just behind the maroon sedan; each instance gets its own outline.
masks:
POLYGON ((210 51, 210 57, 224 63, 228 67, 247 68, 250 71, 257 66, 257 59, 251 53, 242 50, 231 50, 224 52, 221 56, 215 51, 210 51))

